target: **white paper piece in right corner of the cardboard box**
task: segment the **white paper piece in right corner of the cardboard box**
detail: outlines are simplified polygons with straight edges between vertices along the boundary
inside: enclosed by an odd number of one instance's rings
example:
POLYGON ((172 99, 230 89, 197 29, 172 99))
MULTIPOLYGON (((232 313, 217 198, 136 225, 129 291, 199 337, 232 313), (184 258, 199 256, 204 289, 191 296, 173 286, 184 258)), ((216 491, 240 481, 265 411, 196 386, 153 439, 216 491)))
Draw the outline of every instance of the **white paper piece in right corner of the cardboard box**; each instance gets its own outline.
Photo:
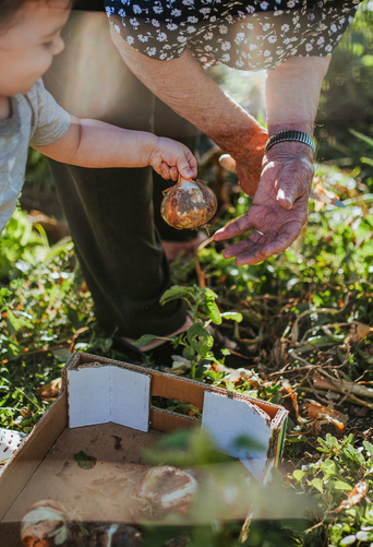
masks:
POLYGON ((246 401, 205 392, 202 427, 226 454, 238 457, 256 478, 261 479, 267 462, 272 438, 268 421, 246 401), (240 439, 252 440, 255 448, 244 447, 240 439))

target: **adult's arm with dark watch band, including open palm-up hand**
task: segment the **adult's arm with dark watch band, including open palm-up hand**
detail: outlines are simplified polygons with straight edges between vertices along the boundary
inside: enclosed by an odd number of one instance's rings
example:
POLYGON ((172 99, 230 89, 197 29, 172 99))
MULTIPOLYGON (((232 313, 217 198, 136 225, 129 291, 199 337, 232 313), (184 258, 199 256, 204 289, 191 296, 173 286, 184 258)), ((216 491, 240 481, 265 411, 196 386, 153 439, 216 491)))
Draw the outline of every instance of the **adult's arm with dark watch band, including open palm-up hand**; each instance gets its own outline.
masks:
MULTIPOLYGON (((294 57, 269 71, 266 82, 269 135, 287 129, 313 134, 320 90, 330 57, 294 57)), ((216 240, 254 231, 228 247, 225 257, 236 264, 255 264, 287 249, 308 218, 313 177, 313 152, 298 142, 274 145, 264 156, 252 206, 215 234, 216 240)))

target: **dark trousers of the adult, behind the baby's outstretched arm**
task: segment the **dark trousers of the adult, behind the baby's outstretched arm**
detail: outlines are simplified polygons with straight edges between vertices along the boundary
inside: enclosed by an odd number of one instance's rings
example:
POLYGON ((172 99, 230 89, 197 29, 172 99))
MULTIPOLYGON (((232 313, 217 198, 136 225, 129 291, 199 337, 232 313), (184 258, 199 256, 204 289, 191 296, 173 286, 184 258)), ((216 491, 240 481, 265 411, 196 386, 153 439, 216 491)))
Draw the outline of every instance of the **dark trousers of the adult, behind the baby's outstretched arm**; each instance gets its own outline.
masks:
MULTIPOLYGON (((197 131, 160 103, 127 69, 104 13, 73 12, 65 50, 44 78, 59 104, 80 118, 153 131, 194 150, 197 131)), ((191 239, 159 215, 164 181, 151 167, 88 169, 50 162, 97 319, 129 337, 165 335, 182 325, 180 302, 159 305, 170 285, 161 238, 191 239)))

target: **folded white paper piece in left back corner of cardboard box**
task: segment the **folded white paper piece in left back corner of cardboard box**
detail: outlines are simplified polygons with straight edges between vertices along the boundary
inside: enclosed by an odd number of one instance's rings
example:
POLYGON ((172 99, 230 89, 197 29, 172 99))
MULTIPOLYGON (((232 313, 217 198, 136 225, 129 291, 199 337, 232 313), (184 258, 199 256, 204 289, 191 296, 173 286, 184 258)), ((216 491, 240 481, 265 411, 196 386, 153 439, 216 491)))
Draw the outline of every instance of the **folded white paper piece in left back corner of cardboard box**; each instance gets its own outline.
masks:
POLYGON ((125 368, 81 367, 68 370, 69 426, 112 421, 148 430, 151 377, 125 368))

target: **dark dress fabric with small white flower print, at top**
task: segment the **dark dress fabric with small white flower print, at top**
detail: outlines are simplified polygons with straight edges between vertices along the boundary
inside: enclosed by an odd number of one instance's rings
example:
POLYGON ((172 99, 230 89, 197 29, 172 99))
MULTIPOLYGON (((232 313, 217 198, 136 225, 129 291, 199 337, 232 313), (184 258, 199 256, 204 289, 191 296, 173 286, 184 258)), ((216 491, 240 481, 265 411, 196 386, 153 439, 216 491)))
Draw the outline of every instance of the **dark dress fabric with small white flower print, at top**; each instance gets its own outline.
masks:
POLYGON ((327 56, 360 0, 105 0, 137 51, 170 60, 190 48, 204 66, 262 70, 292 56, 327 56))

